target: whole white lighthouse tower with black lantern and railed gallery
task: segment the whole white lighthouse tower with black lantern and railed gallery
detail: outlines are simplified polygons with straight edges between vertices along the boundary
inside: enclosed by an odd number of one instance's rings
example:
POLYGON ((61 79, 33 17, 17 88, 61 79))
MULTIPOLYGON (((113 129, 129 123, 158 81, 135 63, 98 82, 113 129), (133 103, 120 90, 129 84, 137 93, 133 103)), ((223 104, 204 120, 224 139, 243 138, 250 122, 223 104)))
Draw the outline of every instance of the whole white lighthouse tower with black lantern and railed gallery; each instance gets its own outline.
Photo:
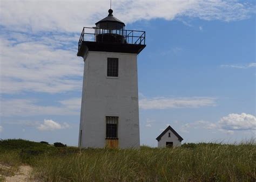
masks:
POLYGON ((145 31, 125 30, 109 15, 84 27, 77 56, 84 59, 81 148, 139 148, 137 55, 145 31))

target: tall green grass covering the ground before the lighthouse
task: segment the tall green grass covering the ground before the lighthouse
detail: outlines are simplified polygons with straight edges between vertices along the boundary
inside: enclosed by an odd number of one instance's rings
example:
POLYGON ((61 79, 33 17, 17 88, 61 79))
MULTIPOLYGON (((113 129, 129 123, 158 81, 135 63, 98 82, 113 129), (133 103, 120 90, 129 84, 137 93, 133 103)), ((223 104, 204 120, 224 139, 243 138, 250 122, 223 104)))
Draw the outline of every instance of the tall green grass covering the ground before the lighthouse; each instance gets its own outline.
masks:
POLYGON ((34 177, 44 181, 255 181, 255 151, 253 140, 79 152, 74 147, 9 139, 0 141, 0 162, 29 164, 34 177))

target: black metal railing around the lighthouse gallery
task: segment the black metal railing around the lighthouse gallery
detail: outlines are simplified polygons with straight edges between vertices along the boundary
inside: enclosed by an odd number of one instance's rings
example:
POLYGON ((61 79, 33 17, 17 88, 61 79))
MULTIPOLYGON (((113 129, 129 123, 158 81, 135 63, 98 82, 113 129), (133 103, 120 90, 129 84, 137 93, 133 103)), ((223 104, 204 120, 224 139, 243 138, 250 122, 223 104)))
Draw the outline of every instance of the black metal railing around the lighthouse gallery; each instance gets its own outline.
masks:
POLYGON ((78 41, 78 51, 80 50, 83 41, 145 45, 145 39, 145 31, 84 27, 78 41))

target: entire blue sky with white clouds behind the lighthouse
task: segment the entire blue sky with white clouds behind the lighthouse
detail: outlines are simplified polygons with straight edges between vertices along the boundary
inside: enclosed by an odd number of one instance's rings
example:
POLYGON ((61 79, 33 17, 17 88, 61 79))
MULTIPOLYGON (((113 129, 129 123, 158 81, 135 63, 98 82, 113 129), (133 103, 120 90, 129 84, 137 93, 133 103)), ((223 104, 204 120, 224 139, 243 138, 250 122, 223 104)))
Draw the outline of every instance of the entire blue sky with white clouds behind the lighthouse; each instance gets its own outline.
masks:
MULTIPOLYGON (((0 138, 78 145, 84 26, 109 2, 0 0, 0 138)), ((140 144, 171 127, 188 142, 255 138, 255 1, 112 0, 138 55, 140 144)))

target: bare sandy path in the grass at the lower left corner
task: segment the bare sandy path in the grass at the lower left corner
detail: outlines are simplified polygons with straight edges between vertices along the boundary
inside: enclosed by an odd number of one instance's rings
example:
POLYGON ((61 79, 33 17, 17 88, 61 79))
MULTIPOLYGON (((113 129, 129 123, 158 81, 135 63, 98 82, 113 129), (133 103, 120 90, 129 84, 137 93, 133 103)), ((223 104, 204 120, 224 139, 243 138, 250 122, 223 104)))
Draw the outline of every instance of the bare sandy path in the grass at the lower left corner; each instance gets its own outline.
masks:
POLYGON ((19 170, 15 173, 14 176, 5 177, 5 181, 33 181, 30 179, 30 172, 32 167, 28 165, 22 165, 19 167, 19 170))

